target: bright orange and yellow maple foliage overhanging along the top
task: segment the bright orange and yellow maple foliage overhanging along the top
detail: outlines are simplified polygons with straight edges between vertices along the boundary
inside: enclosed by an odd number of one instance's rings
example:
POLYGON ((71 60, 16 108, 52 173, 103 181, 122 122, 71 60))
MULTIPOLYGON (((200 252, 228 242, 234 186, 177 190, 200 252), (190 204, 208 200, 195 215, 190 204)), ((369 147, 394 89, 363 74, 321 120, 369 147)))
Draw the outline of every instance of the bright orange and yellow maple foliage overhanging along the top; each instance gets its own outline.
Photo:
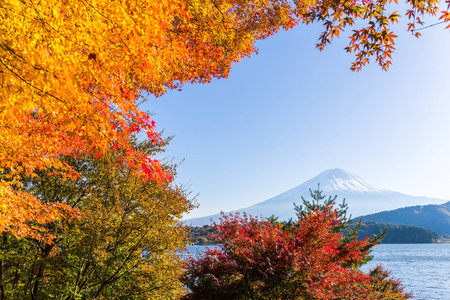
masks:
MULTIPOLYGON (((357 19, 352 69, 371 56, 390 65, 396 0, 3 0, 0 3, 0 232, 39 233, 39 224, 79 217, 21 192, 20 179, 50 169, 77 176, 63 155, 126 150, 125 163, 149 180, 170 180, 157 160, 130 147, 145 132, 160 140, 138 108, 143 92, 160 96, 184 83, 227 77, 255 42, 299 23, 323 22, 319 49, 357 19)), ((446 0, 450 5, 450 0, 446 0)), ((414 32, 437 0, 408 0, 414 32)), ((441 18, 449 22, 448 7, 441 18)), ((70 213, 72 212, 72 213, 70 213)))

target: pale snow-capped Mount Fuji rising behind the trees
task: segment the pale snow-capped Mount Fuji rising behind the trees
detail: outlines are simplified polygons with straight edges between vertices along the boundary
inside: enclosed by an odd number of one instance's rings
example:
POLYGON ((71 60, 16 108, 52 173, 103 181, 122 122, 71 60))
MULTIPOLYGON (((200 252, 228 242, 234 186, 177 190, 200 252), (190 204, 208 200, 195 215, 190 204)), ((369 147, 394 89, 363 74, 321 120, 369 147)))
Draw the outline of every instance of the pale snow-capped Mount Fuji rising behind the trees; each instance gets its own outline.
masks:
MULTIPOLYGON (((310 199, 309 190, 317 189, 318 184, 323 195, 327 197, 337 195, 338 204, 345 198, 345 202, 348 203, 348 212, 353 218, 406 206, 446 202, 442 199, 409 196, 382 189, 343 169, 330 169, 278 196, 231 213, 246 212, 249 215, 263 217, 275 215, 279 217, 279 220, 288 220, 295 216, 293 203, 302 204, 302 197, 310 199)), ((202 226, 211 224, 211 219, 217 222, 219 218, 220 214, 215 214, 187 219, 185 222, 191 226, 202 226)))

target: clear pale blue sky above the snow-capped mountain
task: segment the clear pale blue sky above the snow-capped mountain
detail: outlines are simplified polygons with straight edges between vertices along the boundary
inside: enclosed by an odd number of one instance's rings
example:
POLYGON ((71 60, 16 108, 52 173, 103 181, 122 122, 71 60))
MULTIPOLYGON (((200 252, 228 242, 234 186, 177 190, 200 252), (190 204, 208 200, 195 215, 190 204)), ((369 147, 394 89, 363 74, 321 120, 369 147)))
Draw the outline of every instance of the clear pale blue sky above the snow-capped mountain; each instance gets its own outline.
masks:
MULTIPOLYGON (((437 22, 431 21, 429 24, 437 22)), ((189 217, 243 208, 326 169, 450 200, 450 31, 398 26, 393 66, 351 72, 346 38, 315 49, 321 27, 258 42, 228 79, 186 85, 143 106, 175 135, 164 156, 199 194, 189 217)))

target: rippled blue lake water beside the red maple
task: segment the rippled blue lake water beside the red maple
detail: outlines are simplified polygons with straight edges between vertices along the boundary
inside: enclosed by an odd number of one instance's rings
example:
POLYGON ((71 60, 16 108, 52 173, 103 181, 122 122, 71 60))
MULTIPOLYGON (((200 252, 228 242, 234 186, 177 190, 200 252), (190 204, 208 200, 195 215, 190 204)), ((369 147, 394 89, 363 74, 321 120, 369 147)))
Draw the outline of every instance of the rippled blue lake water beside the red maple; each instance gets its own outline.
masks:
MULTIPOLYGON (((189 247, 191 254, 205 249, 189 247)), ((450 244, 383 244, 373 248, 372 256, 363 271, 382 264, 414 293, 414 299, 450 300, 450 244)))

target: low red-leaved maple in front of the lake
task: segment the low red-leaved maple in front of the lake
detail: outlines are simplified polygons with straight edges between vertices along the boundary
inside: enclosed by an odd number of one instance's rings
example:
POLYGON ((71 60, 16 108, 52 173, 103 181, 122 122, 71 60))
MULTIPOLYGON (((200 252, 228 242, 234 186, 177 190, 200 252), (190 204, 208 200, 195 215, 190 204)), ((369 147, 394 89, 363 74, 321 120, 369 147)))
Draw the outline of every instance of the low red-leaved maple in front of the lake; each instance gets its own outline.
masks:
POLYGON ((190 293, 183 299, 411 298, 383 268, 369 274, 358 269, 378 237, 344 236, 349 220, 343 210, 332 202, 313 206, 288 226, 223 215, 215 224, 218 248, 188 262, 182 280, 190 293))

